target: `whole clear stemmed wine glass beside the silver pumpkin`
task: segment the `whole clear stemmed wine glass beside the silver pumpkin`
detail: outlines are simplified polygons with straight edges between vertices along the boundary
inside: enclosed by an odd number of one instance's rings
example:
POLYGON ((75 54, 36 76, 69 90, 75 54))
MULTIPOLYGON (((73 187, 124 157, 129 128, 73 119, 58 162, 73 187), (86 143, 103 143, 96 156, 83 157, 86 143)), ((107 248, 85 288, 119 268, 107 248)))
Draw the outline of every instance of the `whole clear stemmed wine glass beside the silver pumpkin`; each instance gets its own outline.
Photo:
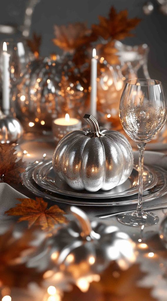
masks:
POLYGON ((128 136, 139 150, 139 193, 135 212, 118 215, 125 225, 153 225, 159 221, 142 208, 143 163, 146 143, 162 129, 167 116, 167 102, 161 82, 154 79, 131 79, 125 84, 119 105, 119 117, 128 136))

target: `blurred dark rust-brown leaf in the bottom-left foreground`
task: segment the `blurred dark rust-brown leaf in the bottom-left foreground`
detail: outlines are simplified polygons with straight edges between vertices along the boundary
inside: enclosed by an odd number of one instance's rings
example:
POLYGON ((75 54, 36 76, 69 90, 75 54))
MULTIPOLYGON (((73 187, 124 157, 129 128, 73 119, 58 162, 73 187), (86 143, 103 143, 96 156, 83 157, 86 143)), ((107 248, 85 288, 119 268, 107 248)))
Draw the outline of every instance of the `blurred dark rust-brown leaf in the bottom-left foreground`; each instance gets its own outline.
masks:
POLYGON ((37 248, 32 245, 34 238, 34 228, 21 232, 19 237, 13 229, 0 235, 0 286, 26 287, 32 281, 40 284, 42 273, 26 266, 37 248))

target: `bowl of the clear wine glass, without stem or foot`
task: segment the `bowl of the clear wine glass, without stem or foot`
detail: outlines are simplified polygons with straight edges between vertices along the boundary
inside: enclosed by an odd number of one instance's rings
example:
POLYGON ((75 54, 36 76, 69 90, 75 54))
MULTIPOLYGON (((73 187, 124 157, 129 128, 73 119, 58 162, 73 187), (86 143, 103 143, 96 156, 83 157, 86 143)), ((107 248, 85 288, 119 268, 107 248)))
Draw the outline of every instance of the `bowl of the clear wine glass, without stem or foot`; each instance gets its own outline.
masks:
POLYGON ((125 132, 134 141, 152 140, 166 119, 161 82, 153 79, 128 80, 122 93, 119 116, 125 132))

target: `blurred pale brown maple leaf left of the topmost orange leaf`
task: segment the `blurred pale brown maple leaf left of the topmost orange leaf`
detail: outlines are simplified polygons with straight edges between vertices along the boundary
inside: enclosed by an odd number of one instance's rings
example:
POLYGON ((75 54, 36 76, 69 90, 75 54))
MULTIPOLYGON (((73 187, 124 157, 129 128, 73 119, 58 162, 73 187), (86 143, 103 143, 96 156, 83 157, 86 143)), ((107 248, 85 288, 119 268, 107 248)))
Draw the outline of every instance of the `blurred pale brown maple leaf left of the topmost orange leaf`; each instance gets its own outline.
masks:
POLYGON ((92 42, 91 30, 85 23, 74 23, 65 25, 54 25, 54 44, 65 51, 73 51, 82 45, 92 42))

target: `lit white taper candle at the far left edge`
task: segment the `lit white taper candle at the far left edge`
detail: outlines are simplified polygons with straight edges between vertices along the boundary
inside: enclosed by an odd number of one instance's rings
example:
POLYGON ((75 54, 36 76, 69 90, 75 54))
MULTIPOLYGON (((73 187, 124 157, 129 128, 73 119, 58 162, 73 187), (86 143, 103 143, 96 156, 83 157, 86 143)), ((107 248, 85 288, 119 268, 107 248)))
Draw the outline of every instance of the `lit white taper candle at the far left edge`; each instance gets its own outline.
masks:
POLYGON ((10 73, 9 59, 10 54, 7 52, 7 44, 3 43, 3 70, 2 70, 2 110, 4 114, 9 114, 10 110, 10 73))

